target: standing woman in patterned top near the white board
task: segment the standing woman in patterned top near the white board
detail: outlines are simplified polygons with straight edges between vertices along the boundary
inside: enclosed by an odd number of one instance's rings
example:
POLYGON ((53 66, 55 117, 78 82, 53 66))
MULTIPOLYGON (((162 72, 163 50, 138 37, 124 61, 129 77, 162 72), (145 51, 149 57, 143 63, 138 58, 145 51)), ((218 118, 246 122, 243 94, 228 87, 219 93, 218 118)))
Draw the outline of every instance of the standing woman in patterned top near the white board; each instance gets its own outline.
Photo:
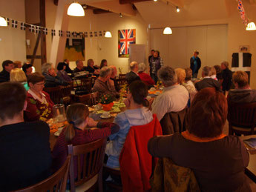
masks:
POLYGON ((160 57, 159 50, 155 50, 153 56, 150 59, 150 76, 155 83, 158 81, 157 71, 163 66, 163 59, 160 57))

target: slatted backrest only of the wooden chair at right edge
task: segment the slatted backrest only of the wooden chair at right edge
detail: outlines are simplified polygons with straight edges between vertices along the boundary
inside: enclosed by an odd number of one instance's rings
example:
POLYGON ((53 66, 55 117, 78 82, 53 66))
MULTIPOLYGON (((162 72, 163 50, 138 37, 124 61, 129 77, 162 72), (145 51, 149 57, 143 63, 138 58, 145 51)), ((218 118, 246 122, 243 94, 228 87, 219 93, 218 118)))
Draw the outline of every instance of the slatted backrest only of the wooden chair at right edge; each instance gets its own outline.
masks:
POLYGON ((242 128, 256 127, 256 102, 228 102, 228 121, 231 125, 242 128))

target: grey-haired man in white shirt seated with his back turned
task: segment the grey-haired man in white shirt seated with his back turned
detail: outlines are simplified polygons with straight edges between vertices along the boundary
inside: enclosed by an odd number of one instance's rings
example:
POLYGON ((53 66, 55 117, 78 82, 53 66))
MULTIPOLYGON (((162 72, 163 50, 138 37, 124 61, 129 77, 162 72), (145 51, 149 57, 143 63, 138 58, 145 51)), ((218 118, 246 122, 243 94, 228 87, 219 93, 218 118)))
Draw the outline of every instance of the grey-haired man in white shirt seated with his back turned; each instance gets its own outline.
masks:
POLYGON ((175 70, 169 66, 163 66, 157 72, 158 78, 163 82, 163 93, 154 99, 152 113, 157 114, 160 121, 165 113, 178 112, 188 104, 188 90, 177 83, 175 70))

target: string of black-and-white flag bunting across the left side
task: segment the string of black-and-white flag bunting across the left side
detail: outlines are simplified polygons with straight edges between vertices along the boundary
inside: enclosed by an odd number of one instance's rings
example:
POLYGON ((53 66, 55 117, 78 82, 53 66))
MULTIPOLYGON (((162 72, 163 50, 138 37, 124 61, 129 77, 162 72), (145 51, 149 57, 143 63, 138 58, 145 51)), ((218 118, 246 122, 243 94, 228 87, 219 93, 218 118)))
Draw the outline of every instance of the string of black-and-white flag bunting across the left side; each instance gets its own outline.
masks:
MULTIPOLYGON (((76 31, 73 31, 73 32, 70 32, 70 31, 63 31, 63 30, 55 30, 55 29, 50 29, 50 28, 47 28, 47 27, 41 27, 41 26, 38 26, 38 25, 34 25, 34 24, 29 24, 29 23, 25 23, 25 22, 22 22, 22 21, 16 21, 15 19, 10 19, 10 18, 7 18, 5 17, 6 21, 7 21, 7 25, 9 26, 10 25, 10 21, 11 21, 11 26, 13 28, 16 28, 16 29, 20 29, 20 30, 26 30, 26 28, 28 28, 28 30, 31 32, 31 33, 43 33, 44 35, 47 35, 48 34, 48 31, 49 33, 51 34, 51 36, 56 36, 56 33, 59 34, 60 37, 63 37, 63 36, 66 36, 67 38, 70 38, 71 36, 73 38, 88 38, 88 32, 85 31, 85 32, 76 32, 76 31)), ((105 36, 105 30, 103 31, 94 31, 94 32, 91 32, 90 31, 90 37, 101 37, 102 34, 103 36, 105 36)))

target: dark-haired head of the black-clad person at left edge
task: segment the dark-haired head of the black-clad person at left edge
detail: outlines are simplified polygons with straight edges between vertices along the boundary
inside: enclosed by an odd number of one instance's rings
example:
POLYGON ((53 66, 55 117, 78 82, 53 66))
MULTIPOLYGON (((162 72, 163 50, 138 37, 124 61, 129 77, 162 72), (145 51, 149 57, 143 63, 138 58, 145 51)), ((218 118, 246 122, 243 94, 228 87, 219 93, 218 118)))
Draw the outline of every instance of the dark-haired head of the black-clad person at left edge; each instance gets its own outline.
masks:
POLYGON ((0 84, 0 119, 13 119, 20 114, 27 97, 27 91, 19 82, 4 82, 0 84))

